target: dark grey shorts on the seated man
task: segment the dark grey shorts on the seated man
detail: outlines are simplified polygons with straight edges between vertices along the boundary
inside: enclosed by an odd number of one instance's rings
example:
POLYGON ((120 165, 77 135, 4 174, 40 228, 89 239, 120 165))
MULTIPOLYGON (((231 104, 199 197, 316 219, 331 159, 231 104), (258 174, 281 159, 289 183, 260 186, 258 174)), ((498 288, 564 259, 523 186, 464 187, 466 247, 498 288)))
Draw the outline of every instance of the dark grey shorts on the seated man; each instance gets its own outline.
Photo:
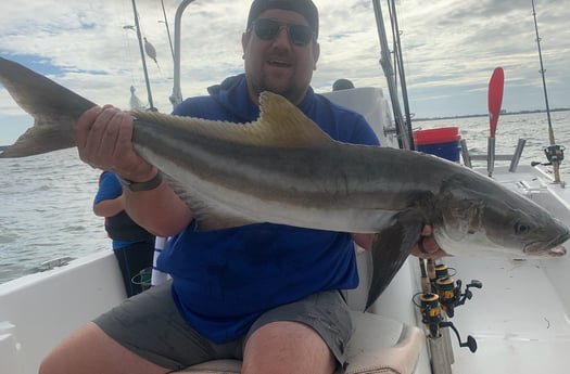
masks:
POLYGON ((338 291, 326 291, 262 314, 248 334, 215 344, 182 319, 172 297, 170 282, 126 299, 93 322, 122 346, 173 371, 216 359, 243 359, 249 336, 276 321, 295 321, 313 327, 327 343, 340 366, 346 366, 344 348, 352 335, 346 302, 338 291))

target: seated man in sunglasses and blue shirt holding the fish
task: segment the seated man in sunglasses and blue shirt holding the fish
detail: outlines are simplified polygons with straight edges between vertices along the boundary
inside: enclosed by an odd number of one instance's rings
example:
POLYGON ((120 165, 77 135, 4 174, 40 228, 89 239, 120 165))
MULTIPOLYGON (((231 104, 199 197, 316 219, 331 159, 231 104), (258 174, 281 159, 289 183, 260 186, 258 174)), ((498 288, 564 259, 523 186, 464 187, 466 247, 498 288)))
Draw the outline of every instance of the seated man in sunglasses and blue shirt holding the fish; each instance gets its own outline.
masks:
MULTIPOLYGON (((259 115, 259 93, 271 91, 333 139, 378 145, 362 115, 311 88, 318 33, 311 0, 253 1, 241 36, 244 74, 187 99, 174 114, 245 124, 259 115)), ((87 111, 75 127, 80 158, 125 180, 129 215, 157 235, 173 235, 159 257, 172 281, 80 327, 40 373, 164 374, 216 359, 242 360, 245 374, 345 367, 353 326, 340 289, 358 285, 354 244, 369 249, 373 235, 273 223, 199 231, 157 167, 134 151, 131 133, 131 115, 112 106, 87 111)), ((422 235, 413 253, 438 256, 429 225, 422 235)))

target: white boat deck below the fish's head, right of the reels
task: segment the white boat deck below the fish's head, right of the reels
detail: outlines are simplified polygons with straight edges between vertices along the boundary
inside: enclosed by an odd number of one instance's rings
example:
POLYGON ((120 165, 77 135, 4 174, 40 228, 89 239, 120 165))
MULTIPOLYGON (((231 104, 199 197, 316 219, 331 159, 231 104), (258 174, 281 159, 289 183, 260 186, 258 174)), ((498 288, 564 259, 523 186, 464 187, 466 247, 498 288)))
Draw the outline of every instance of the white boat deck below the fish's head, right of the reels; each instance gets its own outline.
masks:
POLYGON ((463 338, 469 334, 478 351, 458 348, 454 373, 567 373, 570 365, 570 320, 561 293, 569 283, 554 284, 549 269, 570 269, 570 259, 447 259, 456 279, 483 282, 473 298, 452 319, 463 338), (560 263, 562 262, 562 263, 560 263))

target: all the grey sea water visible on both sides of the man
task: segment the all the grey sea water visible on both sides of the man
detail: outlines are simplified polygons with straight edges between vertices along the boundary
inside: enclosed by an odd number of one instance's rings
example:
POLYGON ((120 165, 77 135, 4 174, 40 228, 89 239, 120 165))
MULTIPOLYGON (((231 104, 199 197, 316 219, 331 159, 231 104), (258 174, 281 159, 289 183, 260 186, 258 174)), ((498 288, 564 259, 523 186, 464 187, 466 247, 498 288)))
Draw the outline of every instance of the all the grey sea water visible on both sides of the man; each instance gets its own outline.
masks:
MULTIPOLYGON (((556 143, 570 146, 570 112, 554 112, 552 120, 556 143)), ((486 152, 486 117, 417 120, 413 125, 415 129, 457 126, 471 154, 486 152)), ((501 116, 496 153, 514 153, 519 138, 527 139, 520 165, 545 162, 546 114, 501 116)), ((40 271, 48 260, 111 250, 103 219, 92 212, 99 175, 100 170, 79 160, 75 149, 0 159, 0 283, 40 271)), ((561 176, 570 178, 569 163, 562 163, 561 176)))

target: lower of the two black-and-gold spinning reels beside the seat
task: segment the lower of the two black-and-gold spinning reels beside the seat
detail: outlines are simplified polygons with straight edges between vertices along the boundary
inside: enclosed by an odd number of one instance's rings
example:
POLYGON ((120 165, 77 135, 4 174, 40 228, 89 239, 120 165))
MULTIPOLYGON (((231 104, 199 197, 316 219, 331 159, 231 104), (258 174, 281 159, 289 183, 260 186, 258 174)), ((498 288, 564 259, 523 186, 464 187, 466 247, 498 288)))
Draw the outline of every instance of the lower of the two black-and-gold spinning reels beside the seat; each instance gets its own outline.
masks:
POLYGON ((467 347, 469 350, 474 353, 477 351, 477 340, 471 336, 467 336, 466 341, 461 341, 459 332, 453 324, 453 322, 445 321, 442 317, 442 305, 440 304, 440 296, 436 294, 418 294, 419 304, 414 300, 414 304, 421 311, 421 322, 430 332, 432 338, 441 337, 440 328, 449 327, 455 333, 457 340, 459 341, 459 347, 467 347))

